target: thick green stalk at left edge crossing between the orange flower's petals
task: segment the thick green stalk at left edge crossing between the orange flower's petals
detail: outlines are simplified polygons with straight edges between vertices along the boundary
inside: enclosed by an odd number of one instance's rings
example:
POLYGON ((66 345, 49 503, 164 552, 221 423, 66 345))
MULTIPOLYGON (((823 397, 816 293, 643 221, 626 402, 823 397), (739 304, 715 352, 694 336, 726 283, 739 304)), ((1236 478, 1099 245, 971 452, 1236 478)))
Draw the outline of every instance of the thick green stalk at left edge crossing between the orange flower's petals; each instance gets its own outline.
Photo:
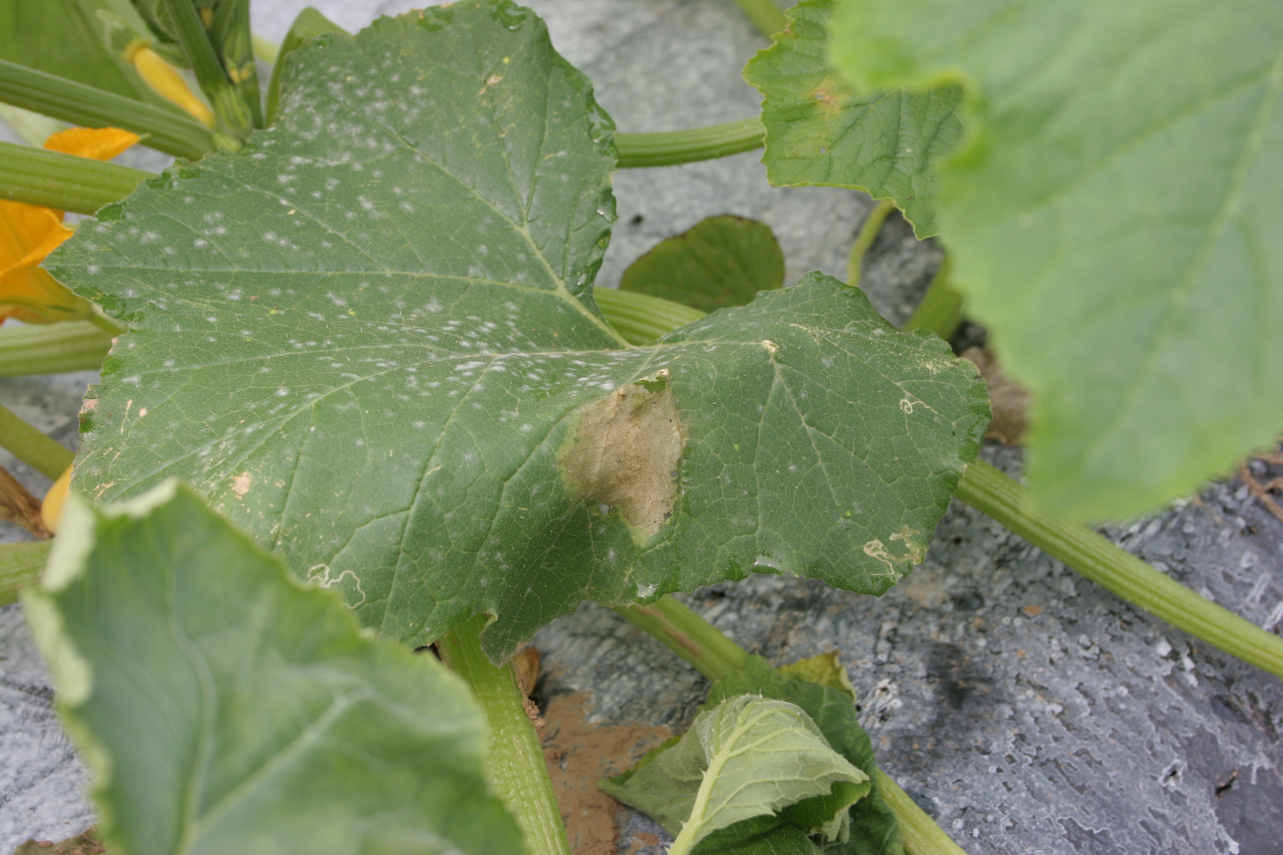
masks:
POLYGON ((92 214, 119 201, 150 172, 46 151, 30 145, 0 142, 0 199, 92 214))

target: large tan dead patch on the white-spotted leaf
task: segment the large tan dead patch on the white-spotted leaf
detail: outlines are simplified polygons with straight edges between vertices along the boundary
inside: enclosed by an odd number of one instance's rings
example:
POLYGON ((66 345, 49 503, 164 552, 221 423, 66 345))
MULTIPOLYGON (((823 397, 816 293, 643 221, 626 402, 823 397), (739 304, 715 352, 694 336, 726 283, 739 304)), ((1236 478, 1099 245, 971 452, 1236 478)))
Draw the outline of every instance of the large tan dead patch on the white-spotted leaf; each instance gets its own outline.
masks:
POLYGON ((617 508, 654 535, 677 501, 677 464, 686 437, 667 370, 627 383, 579 409, 561 467, 575 496, 617 508))

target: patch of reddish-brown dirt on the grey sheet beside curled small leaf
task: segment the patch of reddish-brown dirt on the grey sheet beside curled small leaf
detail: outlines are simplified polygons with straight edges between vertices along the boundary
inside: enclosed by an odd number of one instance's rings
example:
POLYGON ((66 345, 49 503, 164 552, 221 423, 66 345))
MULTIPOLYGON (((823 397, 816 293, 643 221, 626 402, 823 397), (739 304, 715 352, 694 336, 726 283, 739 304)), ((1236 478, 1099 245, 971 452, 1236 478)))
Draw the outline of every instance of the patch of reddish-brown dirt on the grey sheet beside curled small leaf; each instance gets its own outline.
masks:
POLYGON ((649 724, 590 724, 590 699, 558 695, 544 709, 540 737, 557 804, 575 855, 616 855, 615 815, 620 802, 598 790, 602 778, 633 768, 642 755, 672 736, 649 724))

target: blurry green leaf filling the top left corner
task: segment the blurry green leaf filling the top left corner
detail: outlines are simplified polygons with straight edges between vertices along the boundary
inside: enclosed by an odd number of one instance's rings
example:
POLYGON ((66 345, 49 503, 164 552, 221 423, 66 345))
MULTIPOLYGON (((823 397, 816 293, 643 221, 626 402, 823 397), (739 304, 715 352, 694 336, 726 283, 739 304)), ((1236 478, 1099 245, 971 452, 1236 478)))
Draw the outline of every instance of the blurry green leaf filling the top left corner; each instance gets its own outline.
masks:
POLYGON ((112 0, 0 0, 0 59, 181 113, 108 50, 96 13, 114 8, 112 0))

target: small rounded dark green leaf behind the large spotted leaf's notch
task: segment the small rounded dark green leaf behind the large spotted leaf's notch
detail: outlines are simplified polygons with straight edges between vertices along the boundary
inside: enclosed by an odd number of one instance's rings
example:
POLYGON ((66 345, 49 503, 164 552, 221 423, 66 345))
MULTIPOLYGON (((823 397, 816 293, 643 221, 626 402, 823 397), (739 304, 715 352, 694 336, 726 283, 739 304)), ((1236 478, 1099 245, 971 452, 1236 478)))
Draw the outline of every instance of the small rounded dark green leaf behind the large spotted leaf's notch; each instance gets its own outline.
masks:
POLYGON ((758 291, 781 285, 784 251, 771 227, 724 214, 657 244, 629 265, 620 290, 713 311, 748 305, 758 291))

